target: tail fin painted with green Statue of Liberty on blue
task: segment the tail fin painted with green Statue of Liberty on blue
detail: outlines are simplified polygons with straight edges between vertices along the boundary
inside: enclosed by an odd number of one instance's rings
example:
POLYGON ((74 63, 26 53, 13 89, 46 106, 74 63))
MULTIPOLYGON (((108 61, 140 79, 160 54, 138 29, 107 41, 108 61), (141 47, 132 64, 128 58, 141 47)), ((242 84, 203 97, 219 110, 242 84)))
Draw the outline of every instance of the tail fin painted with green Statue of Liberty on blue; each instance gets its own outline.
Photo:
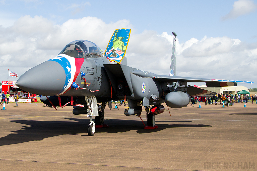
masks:
POLYGON ((113 62, 121 63, 125 56, 131 29, 121 28, 114 31, 105 50, 105 57, 113 62))

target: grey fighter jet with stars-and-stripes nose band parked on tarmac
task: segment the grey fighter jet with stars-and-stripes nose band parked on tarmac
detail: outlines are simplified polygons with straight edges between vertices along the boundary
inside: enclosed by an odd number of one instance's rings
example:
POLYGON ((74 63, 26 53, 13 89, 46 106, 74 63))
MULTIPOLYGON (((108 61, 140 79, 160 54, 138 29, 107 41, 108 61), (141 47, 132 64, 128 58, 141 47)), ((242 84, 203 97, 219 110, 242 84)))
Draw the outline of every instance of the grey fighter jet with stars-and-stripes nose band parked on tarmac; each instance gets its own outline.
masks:
POLYGON ((87 114, 90 118, 88 135, 93 136, 96 126, 104 126, 104 109, 111 100, 127 100, 126 116, 140 116, 142 107, 145 107, 147 128, 154 129, 157 128, 155 115, 164 111, 162 103, 180 108, 189 104, 190 96, 216 94, 188 86, 187 82, 206 82, 207 87, 236 86, 238 82, 252 84, 248 81, 176 76, 177 35, 174 32, 169 76, 122 65, 129 35, 130 29, 115 30, 105 53, 93 42, 73 41, 56 57, 25 72, 16 85, 26 92, 43 95, 41 101, 44 103, 61 107, 72 105, 73 114, 87 114), (101 106, 97 104, 100 102, 101 106), (92 116, 95 116, 95 122, 92 116))

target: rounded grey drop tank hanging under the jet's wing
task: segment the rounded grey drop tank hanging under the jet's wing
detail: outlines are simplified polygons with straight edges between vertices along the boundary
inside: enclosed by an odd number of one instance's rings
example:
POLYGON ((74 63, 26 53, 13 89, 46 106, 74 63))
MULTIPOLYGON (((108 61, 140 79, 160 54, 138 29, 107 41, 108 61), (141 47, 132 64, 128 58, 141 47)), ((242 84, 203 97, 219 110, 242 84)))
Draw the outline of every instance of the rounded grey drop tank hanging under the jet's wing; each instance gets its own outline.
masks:
POLYGON ((190 103, 190 96, 185 92, 170 92, 165 97, 165 103, 171 108, 185 107, 190 103))

